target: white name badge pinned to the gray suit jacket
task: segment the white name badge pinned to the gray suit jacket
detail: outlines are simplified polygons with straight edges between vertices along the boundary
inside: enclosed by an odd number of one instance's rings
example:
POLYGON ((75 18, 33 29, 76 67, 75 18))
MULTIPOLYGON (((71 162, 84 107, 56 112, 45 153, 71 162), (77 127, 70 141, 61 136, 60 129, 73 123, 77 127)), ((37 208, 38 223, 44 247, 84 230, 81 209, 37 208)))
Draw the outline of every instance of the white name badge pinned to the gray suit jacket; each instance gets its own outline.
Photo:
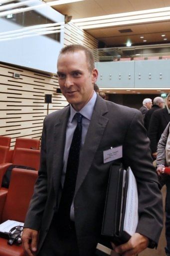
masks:
POLYGON ((103 151, 103 162, 110 162, 122 157, 122 145, 103 151))

